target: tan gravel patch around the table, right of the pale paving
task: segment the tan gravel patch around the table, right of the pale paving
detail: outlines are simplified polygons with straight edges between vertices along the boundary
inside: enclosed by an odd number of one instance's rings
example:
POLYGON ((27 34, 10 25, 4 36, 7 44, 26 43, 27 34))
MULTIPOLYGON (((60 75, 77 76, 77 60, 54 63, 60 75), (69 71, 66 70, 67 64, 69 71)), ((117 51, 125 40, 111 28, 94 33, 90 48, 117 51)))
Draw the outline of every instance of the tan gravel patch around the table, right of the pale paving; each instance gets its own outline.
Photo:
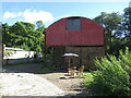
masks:
POLYGON ((47 73, 36 75, 48 79, 71 96, 92 96, 90 91, 85 91, 83 88, 82 82, 84 78, 71 78, 67 77, 66 74, 67 73, 47 73))

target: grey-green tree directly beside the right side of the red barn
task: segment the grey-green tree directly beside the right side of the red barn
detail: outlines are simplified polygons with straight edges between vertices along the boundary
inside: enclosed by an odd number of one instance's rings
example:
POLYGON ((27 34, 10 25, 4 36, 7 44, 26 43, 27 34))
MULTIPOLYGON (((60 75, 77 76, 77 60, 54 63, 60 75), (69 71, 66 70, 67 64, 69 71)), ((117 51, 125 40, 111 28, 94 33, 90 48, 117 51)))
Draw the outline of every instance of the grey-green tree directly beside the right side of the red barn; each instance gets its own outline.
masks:
POLYGON ((94 21, 105 27, 107 52, 112 53, 112 41, 117 38, 115 32, 119 27, 122 16, 115 12, 110 14, 102 12, 94 21))

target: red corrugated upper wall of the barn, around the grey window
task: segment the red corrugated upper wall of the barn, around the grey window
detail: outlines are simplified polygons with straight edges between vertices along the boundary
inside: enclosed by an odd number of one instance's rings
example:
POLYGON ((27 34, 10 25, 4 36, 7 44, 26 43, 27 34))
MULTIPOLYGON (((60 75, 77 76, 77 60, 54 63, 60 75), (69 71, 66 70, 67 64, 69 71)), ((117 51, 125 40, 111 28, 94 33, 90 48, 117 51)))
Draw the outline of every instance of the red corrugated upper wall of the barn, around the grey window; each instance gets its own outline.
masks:
POLYGON ((81 30, 67 30, 68 17, 51 24, 46 29, 46 45, 103 46, 105 44, 104 27, 90 19, 80 19, 81 30))

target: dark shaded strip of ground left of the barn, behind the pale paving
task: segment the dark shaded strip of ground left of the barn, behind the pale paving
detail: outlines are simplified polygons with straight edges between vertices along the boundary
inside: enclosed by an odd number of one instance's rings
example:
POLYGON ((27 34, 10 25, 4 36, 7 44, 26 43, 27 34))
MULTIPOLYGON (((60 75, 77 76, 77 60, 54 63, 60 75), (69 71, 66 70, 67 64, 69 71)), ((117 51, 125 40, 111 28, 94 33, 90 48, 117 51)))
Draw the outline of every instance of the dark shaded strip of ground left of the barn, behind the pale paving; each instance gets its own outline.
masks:
POLYGON ((3 65, 3 72, 13 73, 34 73, 34 74, 46 74, 46 73, 57 73, 66 72, 66 70, 55 70, 51 62, 29 62, 12 65, 3 65))

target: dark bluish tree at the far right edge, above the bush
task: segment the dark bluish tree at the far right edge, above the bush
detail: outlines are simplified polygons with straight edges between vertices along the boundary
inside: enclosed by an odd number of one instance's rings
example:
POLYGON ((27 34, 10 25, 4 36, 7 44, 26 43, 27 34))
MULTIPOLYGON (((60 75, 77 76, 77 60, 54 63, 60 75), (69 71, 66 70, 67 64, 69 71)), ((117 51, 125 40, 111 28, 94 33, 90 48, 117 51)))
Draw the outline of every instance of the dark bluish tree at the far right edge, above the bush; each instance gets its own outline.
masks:
POLYGON ((119 36, 121 40, 119 48, 124 49, 129 47, 131 50, 131 8, 126 8, 123 12, 123 19, 115 34, 119 36))

